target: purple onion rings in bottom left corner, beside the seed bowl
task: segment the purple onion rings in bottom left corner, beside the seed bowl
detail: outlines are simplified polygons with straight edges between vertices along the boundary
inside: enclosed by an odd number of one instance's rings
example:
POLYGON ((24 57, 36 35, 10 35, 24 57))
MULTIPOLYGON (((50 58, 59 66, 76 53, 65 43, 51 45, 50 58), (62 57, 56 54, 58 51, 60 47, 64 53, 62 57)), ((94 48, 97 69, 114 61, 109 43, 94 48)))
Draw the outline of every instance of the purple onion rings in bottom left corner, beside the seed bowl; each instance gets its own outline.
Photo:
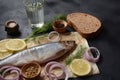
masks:
POLYGON ((1 78, 3 78, 3 80, 6 80, 6 79, 4 79, 4 78, 5 78, 5 74, 6 74, 7 72, 10 72, 10 73, 15 72, 15 73, 17 74, 17 76, 16 76, 14 79, 7 79, 7 80, 19 80, 19 79, 20 79, 21 71, 20 71, 20 69, 17 68, 17 67, 13 67, 13 66, 3 66, 3 67, 1 68, 1 70, 4 70, 4 71, 2 72, 2 74, 1 74, 1 78), (5 69, 5 70, 4 70, 4 69, 5 69))

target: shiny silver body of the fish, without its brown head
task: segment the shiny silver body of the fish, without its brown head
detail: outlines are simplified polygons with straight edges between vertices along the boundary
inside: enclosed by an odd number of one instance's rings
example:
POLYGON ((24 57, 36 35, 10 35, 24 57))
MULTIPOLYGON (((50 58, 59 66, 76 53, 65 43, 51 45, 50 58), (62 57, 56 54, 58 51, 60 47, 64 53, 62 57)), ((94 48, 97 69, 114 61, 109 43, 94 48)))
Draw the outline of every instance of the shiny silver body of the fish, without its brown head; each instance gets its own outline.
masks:
POLYGON ((60 43, 49 43, 24 51, 18 52, 2 61, 0 65, 12 64, 12 65, 22 65, 31 61, 42 62, 54 55, 61 50, 65 49, 60 43))

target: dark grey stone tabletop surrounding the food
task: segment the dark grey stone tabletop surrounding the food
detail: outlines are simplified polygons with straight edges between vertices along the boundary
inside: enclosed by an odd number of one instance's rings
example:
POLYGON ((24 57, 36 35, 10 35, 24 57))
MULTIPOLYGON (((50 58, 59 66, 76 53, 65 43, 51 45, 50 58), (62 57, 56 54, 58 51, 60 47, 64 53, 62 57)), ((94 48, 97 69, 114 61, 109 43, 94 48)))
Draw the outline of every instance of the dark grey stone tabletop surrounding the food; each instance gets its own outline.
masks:
MULTIPOLYGON (((89 45, 97 47, 101 52, 98 62, 101 74, 87 78, 70 80, 120 80, 120 0, 45 0, 45 21, 63 13, 85 12, 98 17, 103 26, 102 33, 89 39, 89 45)), ((7 36, 4 23, 15 20, 20 25, 21 36, 25 38, 31 33, 22 0, 0 0, 0 39, 7 36)))

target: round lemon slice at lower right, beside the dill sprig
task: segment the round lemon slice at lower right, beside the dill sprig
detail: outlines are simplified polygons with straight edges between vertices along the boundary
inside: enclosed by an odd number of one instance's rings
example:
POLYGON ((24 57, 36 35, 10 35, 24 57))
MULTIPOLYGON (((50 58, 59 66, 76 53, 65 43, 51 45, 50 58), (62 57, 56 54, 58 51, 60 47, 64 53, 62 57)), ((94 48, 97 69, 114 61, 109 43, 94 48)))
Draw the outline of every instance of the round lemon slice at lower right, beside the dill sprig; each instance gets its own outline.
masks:
POLYGON ((85 59, 74 59, 70 64, 70 69, 78 76, 85 76, 91 72, 91 65, 85 59))

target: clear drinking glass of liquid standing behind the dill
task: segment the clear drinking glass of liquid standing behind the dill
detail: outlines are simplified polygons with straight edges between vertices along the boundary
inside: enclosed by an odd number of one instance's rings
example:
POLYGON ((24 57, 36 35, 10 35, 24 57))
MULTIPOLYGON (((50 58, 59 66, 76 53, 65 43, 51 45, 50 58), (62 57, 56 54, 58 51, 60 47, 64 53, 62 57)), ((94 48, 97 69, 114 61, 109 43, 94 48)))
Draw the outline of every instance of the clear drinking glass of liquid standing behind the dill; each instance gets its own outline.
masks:
POLYGON ((44 25, 44 0, 24 0, 25 10, 32 28, 44 25))

